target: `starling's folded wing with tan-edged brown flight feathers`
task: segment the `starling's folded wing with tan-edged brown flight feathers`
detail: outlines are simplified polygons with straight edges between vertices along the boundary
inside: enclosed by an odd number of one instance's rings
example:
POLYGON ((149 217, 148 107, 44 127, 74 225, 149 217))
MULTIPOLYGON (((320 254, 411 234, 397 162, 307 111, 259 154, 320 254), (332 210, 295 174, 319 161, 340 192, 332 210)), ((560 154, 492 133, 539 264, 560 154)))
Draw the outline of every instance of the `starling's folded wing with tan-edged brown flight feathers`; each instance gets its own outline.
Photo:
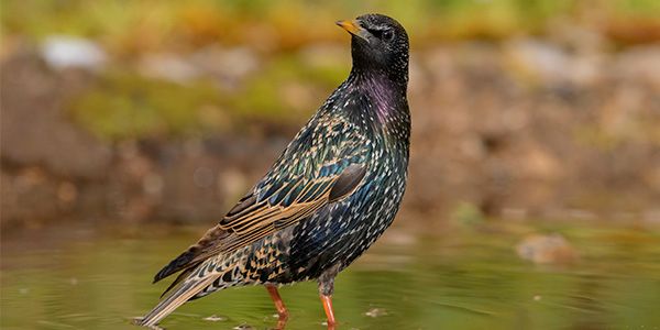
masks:
POLYGON ((338 142, 333 144, 332 138, 336 136, 332 132, 339 134, 345 131, 337 125, 323 130, 310 133, 310 139, 304 139, 305 131, 301 131, 298 135, 302 139, 289 144, 260 184, 218 226, 163 267, 154 282, 194 267, 221 252, 258 241, 351 194, 366 174, 366 148, 360 144, 360 139, 337 139, 338 142), (323 147, 317 147, 311 141, 316 140, 312 139, 315 134, 326 134, 328 139, 323 140, 323 147), (300 153, 300 148, 316 153, 300 153))

